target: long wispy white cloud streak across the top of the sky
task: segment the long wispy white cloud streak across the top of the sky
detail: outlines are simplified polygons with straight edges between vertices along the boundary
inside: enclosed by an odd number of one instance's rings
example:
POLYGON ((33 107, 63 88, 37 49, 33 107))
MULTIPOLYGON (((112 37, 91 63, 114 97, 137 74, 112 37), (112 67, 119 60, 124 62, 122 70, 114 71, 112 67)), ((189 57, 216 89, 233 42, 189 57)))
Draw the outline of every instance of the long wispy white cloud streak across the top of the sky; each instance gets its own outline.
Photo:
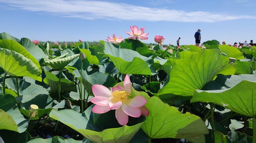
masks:
POLYGON ((247 15, 228 15, 204 11, 187 12, 95 0, 0 0, 0 2, 23 10, 82 19, 218 22, 256 18, 247 15))

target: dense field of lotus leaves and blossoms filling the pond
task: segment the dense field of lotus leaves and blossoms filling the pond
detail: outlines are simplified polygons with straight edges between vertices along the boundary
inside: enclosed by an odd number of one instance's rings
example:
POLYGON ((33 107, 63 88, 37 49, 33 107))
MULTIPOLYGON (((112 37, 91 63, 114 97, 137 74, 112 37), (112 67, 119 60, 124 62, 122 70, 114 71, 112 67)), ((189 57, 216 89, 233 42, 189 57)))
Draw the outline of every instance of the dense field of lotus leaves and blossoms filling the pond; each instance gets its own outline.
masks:
POLYGON ((0 143, 256 143, 256 47, 111 40, 1 33, 0 143))

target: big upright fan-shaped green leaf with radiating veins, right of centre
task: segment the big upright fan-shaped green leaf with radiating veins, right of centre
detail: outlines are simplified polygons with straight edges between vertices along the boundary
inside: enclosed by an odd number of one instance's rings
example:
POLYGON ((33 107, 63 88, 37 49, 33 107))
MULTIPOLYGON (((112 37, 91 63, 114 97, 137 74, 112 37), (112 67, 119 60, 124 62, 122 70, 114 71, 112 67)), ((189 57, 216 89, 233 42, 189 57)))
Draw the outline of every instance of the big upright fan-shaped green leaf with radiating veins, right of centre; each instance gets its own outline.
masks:
POLYGON ((170 71, 169 82, 159 90, 158 95, 192 96, 195 89, 201 89, 227 66, 228 57, 218 49, 205 49, 187 59, 178 59, 170 71))

